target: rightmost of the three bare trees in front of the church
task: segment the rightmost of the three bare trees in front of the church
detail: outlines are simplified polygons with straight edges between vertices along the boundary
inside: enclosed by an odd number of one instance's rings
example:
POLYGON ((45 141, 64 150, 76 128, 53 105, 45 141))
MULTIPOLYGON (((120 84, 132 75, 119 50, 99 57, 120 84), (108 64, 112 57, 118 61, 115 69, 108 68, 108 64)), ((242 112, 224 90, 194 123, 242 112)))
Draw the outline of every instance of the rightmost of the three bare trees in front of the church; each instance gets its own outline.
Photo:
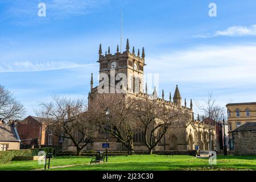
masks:
POLYGON ((138 117, 144 131, 145 143, 149 154, 160 142, 167 129, 184 128, 189 119, 187 113, 183 113, 180 109, 167 107, 164 102, 150 99, 137 99, 134 115, 138 117))

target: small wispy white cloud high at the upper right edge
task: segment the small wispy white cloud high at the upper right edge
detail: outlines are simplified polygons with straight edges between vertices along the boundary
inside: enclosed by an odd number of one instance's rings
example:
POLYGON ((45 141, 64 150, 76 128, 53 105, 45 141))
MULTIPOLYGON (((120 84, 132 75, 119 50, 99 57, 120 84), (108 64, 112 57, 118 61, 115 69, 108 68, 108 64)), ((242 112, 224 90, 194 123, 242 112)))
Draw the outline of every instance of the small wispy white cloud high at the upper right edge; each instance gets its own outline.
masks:
POLYGON ((197 38, 213 38, 216 36, 229 36, 229 37, 238 37, 238 36, 255 36, 256 35, 256 24, 251 26, 232 26, 228 27, 225 30, 215 31, 213 33, 196 35, 197 38))

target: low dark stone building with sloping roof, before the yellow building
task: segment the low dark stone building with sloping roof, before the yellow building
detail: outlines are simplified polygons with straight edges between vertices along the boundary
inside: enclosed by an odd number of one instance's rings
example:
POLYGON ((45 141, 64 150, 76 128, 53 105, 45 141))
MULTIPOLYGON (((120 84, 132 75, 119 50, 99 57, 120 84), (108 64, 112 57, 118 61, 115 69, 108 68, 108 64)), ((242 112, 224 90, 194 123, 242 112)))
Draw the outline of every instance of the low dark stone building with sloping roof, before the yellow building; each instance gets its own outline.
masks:
POLYGON ((234 154, 256 154, 256 122, 248 122, 232 131, 234 154))

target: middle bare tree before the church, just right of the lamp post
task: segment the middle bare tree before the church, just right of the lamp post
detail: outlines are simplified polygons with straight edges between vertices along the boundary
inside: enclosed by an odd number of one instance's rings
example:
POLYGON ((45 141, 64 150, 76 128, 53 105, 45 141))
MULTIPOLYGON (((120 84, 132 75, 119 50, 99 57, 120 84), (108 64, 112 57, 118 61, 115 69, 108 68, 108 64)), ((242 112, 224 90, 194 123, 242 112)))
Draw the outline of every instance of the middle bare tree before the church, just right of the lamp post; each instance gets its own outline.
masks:
POLYGON ((94 118, 97 118, 94 124, 121 142, 129 155, 134 152, 133 137, 135 129, 139 127, 131 112, 134 102, 133 98, 126 97, 125 94, 102 94, 100 99, 94 100, 89 106, 90 113, 94 111, 94 118), (106 108, 110 110, 109 119, 106 119, 106 108))

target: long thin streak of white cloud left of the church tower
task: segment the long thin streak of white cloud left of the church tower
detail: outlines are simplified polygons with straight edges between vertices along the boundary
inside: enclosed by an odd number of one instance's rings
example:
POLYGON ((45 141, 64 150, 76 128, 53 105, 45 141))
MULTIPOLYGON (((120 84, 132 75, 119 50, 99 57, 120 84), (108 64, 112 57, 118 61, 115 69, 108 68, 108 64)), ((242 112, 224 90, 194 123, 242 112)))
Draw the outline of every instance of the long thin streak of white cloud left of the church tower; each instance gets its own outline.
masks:
POLYGON ((0 63, 0 73, 6 72, 39 72, 57 69, 92 67, 95 64, 77 64, 69 61, 48 61, 44 63, 32 63, 31 61, 16 61, 14 63, 0 63))

